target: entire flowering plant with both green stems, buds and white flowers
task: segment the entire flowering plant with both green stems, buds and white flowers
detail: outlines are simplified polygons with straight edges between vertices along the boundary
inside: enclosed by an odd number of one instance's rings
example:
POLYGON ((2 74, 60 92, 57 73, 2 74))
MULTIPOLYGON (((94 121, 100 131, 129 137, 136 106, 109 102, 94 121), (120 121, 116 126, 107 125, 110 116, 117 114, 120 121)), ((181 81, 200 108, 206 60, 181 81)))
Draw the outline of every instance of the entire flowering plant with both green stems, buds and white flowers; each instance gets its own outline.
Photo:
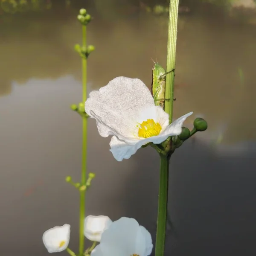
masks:
POLYGON ((98 91, 90 92, 87 99, 87 58, 95 47, 86 44, 86 29, 91 16, 85 9, 80 10, 77 18, 82 25, 83 40, 81 46, 76 44, 75 50, 82 59, 82 102, 71 105, 71 109, 79 113, 83 123, 81 181, 74 183, 70 176, 66 177, 66 181, 80 192, 79 252, 74 253, 68 247, 70 225, 64 224, 44 233, 43 242, 49 253, 67 250, 71 256, 148 256, 153 249, 151 234, 133 218, 122 217, 116 221, 102 215, 85 218, 85 192, 95 177, 94 173, 86 175, 87 120, 90 116, 96 119, 102 137, 112 136, 110 151, 117 161, 129 159, 146 146, 151 146, 159 154, 155 256, 164 255, 170 158, 184 141, 197 131, 207 129, 207 122, 202 118, 194 120, 191 131, 183 127, 183 122, 193 112, 173 122, 178 3, 179 0, 172 0, 169 5, 167 72, 159 64, 154 64, 153 95, 140 79, 118 76, 98 91), (162 94, 163 98, 160 97, 162 94), (93 241, 86 250, 84 236, 93 241))

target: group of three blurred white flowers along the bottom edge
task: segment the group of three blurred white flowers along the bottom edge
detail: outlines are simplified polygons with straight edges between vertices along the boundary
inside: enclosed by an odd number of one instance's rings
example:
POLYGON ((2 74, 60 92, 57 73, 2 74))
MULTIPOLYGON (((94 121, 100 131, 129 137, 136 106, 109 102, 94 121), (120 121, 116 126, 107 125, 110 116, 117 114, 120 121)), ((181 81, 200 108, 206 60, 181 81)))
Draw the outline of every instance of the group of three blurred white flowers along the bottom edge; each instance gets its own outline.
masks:
MULTIPOLYGON (((84 220, 84 236, 99 242, 91 256, 148 256, 153 248, 150 233, 134 218, 122 217, 112 222, 108 216, 89 215, 84 220)), ((49 253, 67 249, 69 241, 69 224, 53 227, 43 235, 49 253)))

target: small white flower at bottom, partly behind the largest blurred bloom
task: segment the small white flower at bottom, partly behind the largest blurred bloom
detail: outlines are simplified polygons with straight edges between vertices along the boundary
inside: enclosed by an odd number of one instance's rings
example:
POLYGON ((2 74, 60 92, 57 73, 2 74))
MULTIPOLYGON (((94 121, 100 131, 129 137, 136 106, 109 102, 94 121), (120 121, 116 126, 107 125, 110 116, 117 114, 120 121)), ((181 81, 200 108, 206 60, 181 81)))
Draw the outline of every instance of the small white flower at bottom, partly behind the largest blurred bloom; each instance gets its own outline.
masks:
POLYGON ((91 240, 99 242, 102 236, 102 232, 106 230, 112 223, 108 216, 89 215, 84 220, 84 236, 91 240))

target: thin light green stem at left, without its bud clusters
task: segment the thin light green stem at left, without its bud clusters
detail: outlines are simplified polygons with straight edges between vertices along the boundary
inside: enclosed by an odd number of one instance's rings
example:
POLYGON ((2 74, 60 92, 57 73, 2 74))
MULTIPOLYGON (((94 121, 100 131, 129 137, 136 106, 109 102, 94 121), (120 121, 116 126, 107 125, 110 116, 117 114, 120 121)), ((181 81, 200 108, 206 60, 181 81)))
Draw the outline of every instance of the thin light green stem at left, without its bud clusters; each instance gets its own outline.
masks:
MULTIPOLYGON (((83 47, 86 47, 86 26, 82 25, 83 47)), ((87 79, 87 59, 82 58, 82 85, 83 102, 86 101, 86 79, 87 79)), ((83 116, 83 145, 82 145, 82 168, 81 186, 86 184, 86 161, 87 161, 87 117, 83 116)), ((80 191, 80 217, 79 217, 79 256, 84 252, 84 217, 85 217, 85 189, 80 191)))

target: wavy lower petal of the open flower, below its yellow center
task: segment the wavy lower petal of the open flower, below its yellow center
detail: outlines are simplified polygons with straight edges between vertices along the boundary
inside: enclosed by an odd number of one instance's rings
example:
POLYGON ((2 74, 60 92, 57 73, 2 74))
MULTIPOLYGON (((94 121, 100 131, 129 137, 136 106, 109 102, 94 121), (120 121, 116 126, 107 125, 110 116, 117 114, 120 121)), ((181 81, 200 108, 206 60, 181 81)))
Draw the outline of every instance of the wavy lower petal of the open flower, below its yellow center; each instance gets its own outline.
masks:
POLYGON ((117 137, 113 136, 110 142, 110 151, 113 154, 113 157, 117 161, 122 161, 123 159, 129 159, 133 154, 137 152, 142 145, 147 143, 160 144, 165 141, 169 136, 179 135, 182 131, 183 122, 186 118, 192 115, 193 112, 187 113, 184 116, 181 116, 175 122, 168 125, 166 129, 157 136, 149 137, 147 139, 137 140, 134 145, 126 143, 124 140, 119 140, 117 137))

